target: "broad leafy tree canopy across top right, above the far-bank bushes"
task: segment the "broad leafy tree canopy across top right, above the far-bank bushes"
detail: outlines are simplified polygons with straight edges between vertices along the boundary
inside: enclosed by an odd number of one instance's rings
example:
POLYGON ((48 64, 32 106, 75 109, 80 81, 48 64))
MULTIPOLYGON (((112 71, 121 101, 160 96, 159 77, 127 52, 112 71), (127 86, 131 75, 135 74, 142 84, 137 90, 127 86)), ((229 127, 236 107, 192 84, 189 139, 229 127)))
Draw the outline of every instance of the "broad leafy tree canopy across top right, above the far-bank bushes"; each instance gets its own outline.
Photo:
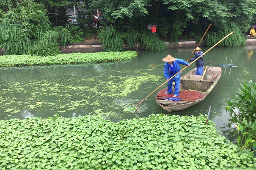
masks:
POLYGON ((200 37, 210 23, 209 32, 215 34, 230 23, 245 33, 256 18, 254 0, 92 0, 89 4, 99 8, 105 18, 103 25, 141 30, 155 22, 157 33, 170 42, 189 35, 200 37))

